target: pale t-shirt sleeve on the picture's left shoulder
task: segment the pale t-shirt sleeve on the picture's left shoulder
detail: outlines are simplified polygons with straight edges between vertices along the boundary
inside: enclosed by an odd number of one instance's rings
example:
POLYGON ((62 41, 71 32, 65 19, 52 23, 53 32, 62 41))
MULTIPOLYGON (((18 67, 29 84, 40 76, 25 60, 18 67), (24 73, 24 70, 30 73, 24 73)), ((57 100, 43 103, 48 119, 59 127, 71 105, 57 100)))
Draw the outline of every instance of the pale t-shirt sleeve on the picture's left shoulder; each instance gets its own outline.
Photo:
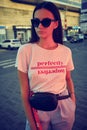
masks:
POLYGON ((28 44, 22 45, 17 53, 16 64, 18 70, 28 73, 30 62, 31 46, 28 44))

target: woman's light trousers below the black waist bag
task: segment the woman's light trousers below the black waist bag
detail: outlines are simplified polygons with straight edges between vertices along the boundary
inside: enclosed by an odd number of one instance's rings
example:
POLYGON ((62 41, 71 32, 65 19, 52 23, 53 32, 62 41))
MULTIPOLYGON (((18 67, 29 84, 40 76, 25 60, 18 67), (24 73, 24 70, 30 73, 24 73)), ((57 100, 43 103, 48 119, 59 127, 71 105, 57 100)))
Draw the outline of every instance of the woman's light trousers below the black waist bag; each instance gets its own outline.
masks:
MULTIPOLYGON (((66 95, 65 90, 60 95, 66 95)), ((54 111, 38 111, 43 130, 72 130, 75 121, 75 104, 71 98, 58 101, 58 106, 54 111)), ((26 121, 25 130, 31 130, 29 122, 26 121)))

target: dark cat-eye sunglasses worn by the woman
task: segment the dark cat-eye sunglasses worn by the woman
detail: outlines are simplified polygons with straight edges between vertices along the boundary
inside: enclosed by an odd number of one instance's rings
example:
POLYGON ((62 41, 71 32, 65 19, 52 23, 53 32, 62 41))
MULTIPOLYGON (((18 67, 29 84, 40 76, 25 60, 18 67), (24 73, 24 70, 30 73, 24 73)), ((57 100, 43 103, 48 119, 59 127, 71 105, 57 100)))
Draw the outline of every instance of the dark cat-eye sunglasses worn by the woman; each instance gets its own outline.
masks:
POLYGON ((34 19, 31 19, 31 23, 34 27, 37 27, 39 26, 39 24, 41 23, 43 25, 43 27, 49 27, 51 22, 54 22, 56 20, 53 20, 53 19, 50 19, 50 18, 44 18, 43 20, 40 21, 40 19, 38 18, 34 18, 34 19))

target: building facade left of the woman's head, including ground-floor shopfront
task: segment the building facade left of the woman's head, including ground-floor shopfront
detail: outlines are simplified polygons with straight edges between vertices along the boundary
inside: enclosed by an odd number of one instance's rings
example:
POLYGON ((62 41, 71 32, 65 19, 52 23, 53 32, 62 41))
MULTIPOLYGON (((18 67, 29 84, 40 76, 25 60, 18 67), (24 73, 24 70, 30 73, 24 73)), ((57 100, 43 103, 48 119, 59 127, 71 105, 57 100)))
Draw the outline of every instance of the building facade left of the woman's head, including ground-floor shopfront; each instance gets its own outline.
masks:
POLYGON ((0 1, 0 42, 4 39, 19 38, 29 40, 34 6, 12 2, 0 1))

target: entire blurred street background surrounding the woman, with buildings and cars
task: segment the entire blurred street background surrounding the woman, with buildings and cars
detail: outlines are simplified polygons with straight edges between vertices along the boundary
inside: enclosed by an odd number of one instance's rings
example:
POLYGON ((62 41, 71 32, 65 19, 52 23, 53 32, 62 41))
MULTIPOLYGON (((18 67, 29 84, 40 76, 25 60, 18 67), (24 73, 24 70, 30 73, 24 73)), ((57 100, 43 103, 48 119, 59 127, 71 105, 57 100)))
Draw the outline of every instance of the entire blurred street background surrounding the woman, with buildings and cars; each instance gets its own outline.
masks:
MULTIPOLYGON (((25 115, 20 97, 17 49, 31 37, 35 5, 46 0, 0 1, 0 130, 24 130, 25 115)), ((50 0, 59 8, 63 41, 71 48, 75 70, 72 77, 77 97, 73 130, 87 130, 87 1, 50 0)))

